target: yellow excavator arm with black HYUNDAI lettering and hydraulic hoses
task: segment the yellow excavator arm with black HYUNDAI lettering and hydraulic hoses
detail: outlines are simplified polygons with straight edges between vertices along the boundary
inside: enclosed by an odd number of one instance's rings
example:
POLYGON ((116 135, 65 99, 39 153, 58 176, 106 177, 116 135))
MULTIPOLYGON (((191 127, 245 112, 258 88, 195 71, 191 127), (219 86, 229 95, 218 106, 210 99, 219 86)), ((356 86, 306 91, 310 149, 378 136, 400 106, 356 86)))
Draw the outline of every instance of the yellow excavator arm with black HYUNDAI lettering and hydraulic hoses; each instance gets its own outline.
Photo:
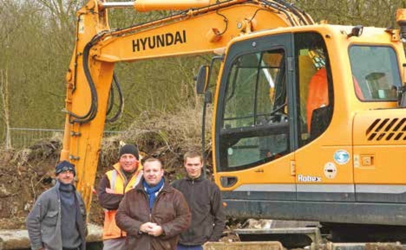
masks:
POLYGON ((61 160, 76 165, 77 189, 89 209, 114 63, 213 53, 235 37, 313 20, 283 0, 89 1, 77 13, 76 45, 66 76, 66 122, 61 160), (181 10, 158 20, 110 29, 110 8, 181 10))

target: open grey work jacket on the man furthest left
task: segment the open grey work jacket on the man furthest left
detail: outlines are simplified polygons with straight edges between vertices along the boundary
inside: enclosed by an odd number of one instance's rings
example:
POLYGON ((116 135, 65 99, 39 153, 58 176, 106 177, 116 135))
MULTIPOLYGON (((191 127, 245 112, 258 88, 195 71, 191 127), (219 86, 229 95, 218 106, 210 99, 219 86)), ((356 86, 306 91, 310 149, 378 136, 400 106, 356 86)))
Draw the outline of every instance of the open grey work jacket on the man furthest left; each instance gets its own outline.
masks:
MULTIPOLYGON (((59 181, 55 186, 43 192, 37 199, 31 212, 27 216, 26 225, 30 237, 32 250, 45 248, 46 250, 62 250, 62 237, 60 231, 60 193, 59 181)), ((78 211, 76 221, 82 249, 86 249, 86 210, 80 194, 76 192, 78 211)))

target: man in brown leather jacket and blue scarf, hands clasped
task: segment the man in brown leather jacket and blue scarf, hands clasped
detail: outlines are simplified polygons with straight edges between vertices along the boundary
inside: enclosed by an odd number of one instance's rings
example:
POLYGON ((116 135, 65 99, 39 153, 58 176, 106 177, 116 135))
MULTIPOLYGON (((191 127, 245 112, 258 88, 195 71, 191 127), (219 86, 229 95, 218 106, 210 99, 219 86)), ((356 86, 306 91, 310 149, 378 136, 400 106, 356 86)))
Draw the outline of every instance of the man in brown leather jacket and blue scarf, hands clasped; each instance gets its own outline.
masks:
POLYGON ((189 227, 184 196, 163 176, 162 162, 146 159, 143 180, 124 195, 116 224, 127 232, 125 250, 176 250, 178 235, 189 227))

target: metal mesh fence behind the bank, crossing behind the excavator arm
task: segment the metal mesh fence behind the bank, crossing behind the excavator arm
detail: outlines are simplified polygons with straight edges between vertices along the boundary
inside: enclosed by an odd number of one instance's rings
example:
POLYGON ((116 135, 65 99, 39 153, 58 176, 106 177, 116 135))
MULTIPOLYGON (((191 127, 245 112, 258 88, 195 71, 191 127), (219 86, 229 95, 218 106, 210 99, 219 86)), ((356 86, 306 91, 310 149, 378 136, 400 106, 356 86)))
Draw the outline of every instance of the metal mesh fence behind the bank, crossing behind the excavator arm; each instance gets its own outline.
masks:
MULTIPOLYGON (((113 136, 122 131, 104 131, 103 136, 113 136)), ((28 148, 40 140, 51 140, 52 138, 62 141, 63 129, 30 129, 10 128, 10 146, 13 148, 28 148)))

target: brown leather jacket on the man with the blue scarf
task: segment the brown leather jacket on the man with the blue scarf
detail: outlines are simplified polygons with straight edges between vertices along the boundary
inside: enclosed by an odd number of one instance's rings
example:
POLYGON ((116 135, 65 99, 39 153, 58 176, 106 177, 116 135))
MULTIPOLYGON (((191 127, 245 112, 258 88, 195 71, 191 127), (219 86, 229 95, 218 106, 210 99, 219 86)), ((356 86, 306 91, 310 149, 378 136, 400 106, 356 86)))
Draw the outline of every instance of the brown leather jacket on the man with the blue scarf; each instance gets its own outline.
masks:
POLYGON ((190 210, 182 193, 165 182, 149 209, 142 181, 128 191, 116 214, 119 228, 127 232, 125 250, 176 250, 178 235, 190 225, 190 210), (145 222, 155 222, 164 233, 158 237, 139 233, 145 222))

